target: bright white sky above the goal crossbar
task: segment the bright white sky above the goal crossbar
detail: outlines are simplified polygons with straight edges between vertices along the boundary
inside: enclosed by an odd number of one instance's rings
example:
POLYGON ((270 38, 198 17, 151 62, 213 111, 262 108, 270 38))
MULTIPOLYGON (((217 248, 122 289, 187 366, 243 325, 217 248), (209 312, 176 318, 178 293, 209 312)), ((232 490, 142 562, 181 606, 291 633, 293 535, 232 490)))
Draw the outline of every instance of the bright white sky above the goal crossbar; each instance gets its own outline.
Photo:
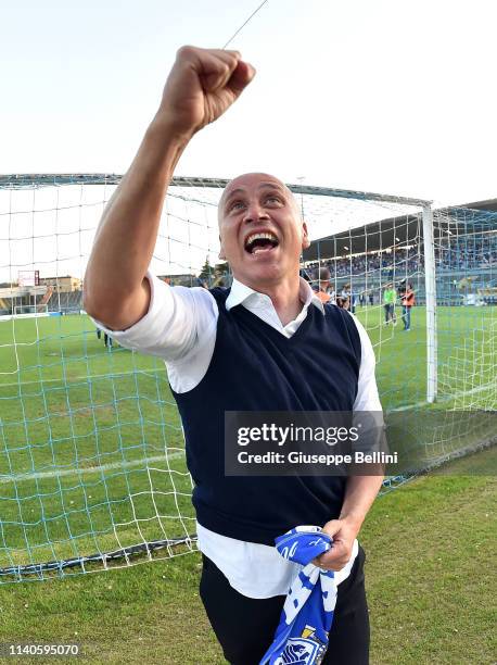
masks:
MULTIPOLYGON (((126 172, 177 49, 222 47, 260 1, 5 3, 0 174, 126 172)), ((496 17, 494 0, 268 0, 229 46, 254 81, 176 175, 496 198, 496 17)))

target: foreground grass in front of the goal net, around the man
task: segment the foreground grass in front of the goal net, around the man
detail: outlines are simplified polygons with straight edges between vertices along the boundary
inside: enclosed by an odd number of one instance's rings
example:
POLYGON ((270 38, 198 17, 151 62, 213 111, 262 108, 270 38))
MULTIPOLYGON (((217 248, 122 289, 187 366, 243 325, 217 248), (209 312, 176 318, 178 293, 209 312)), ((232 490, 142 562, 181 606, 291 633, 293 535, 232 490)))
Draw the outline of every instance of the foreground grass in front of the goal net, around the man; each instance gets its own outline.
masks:
MULTIPOLYGON (((496 461, 490 449, 377 499, 361 531, 372 665, 495 664, 496 478, 477 472, 496 461)), ((0 586, 0 642, 76 642, 85 663, 221 665, 199 576, 193 553, 0 586)))

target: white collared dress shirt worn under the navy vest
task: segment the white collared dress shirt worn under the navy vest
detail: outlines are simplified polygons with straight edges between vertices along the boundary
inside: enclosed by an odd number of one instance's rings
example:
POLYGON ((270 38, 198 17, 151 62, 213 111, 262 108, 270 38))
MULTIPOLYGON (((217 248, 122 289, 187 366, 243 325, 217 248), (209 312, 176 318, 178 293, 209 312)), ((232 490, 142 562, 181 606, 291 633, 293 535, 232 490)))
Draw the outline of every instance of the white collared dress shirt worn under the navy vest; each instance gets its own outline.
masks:
MULTIPOLYGON (((205 376, 214 353, 219 311, 214 297, 204 288, 169 287, 146 274, 151 286, 148 313, 126 330, 109 330, 95 325, 125 348, 156 355, 166 363, 167 375, 176 392, 188 392, 205 376)), ((313 304, 324 315, 323 304, 305 279, 301 278, 302 311, 294 321, 282 325, 271 299, 233 279, 226 300, 229 311, 243 305, 250 312, 290 338, 305 321, 313 304)), ((361 343, 358 391, 354 411, 381 411, 374 378, 374 352, 362 325, 355 316, 361 343)), ((303 525, 295 525, 303 526, 303 525)), ((276 548, 228 538, 197 523, 199 549, 228 578, 230 585, 248 598, 285 595, 302 566, 283 559, 276 548)), ((357 541, 347 565, 336 574, 337 584, 348 576, 358 552, 357 541)))

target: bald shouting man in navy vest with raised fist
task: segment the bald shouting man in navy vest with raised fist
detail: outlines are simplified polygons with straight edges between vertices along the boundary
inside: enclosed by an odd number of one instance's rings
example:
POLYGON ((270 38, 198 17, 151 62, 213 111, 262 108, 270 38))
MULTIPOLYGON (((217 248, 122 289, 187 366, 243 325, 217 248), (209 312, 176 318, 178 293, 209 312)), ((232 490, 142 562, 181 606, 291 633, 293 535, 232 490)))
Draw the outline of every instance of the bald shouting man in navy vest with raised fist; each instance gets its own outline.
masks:
POLYGON ((361 665, 369 624, 356 537, 381 478, 224 473, 225 411, 381 410, 366 331, 300 278, 309 240, 292 192, 260 173, 225 189, 220 256, 233 273, 230 290, 169 287, 148 272, 179 156, 254 74, 237 51, 178 51, 160 109, 103 214, 85 309, 123 346, 166 361, 195 482, 201 597, 226 658, 260 661, 301 569, 279 555, 275 538, 317 525, 333 538, 317 563, 337 570, 340 582, 322 662, 361 665))

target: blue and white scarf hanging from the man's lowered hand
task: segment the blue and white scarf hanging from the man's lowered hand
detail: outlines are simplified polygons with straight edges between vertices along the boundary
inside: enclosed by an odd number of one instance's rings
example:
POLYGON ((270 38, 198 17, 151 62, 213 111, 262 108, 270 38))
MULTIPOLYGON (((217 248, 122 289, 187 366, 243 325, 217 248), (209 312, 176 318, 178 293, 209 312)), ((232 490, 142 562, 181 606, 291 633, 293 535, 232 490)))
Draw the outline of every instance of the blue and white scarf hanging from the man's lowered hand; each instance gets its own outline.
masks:
POLYGON ((319 665, 328 648, 328 633, 336 604, 333 570, 313 563, 332 547, 333 539, 319 527, 302 526, 276 539, 278 552, 305 566, 293 580, 275 640, 259 665, 319 665))

